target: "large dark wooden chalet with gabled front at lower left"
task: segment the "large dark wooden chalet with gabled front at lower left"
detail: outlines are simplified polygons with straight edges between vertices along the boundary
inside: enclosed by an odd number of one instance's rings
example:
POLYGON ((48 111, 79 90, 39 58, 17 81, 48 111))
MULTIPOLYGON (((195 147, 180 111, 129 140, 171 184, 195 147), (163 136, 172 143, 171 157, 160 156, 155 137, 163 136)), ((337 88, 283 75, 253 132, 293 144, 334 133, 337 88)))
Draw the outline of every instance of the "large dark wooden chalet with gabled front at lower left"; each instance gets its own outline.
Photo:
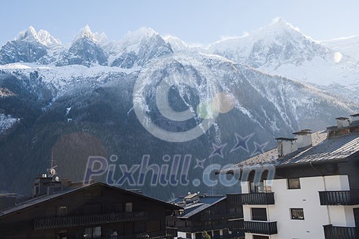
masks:
POLYGON ((0 238, 173 238, 165 216, 179 208, 96 183, 8 209, 0 214, 0 238))

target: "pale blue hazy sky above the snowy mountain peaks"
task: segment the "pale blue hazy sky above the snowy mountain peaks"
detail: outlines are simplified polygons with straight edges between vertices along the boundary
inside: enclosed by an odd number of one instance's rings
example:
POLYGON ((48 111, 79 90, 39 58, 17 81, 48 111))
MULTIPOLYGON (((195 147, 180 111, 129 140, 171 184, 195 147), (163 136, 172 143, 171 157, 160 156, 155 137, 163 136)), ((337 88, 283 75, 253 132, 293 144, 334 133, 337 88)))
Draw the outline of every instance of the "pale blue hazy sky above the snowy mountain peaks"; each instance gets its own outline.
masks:
POLYGON ((128 31, 152 27, 189 43, 209 44, 241 36, 282 16, 315 40, 359 35, 359 1, 315 0, 148 0, 1 2, 0 44, 30 25, 45 29, 63 43, 86 24, 119 40, 128 31))

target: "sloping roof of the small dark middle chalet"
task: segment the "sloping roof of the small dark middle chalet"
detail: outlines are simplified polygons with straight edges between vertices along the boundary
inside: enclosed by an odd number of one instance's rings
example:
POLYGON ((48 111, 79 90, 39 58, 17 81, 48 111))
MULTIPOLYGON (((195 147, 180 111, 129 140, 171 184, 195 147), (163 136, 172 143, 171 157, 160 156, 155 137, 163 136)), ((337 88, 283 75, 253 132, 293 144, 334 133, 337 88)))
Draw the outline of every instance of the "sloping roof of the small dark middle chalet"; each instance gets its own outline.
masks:
MULTIPOLYGON (((188 203, 185 207, 183 207, 185 212, 181 216, 178 216, 178 219, 188 219, 189 217, 206 210, 207 208, 213 206, 215 203, 218 203, 224 199, 226 199, 226 196, 224 195, 210 195, 206 197, 200 197, 200 201, 196 203, 188 203)), ((174 199, 172 202, 181 203, 182 201, 183 197, 179 197, 174 199)))

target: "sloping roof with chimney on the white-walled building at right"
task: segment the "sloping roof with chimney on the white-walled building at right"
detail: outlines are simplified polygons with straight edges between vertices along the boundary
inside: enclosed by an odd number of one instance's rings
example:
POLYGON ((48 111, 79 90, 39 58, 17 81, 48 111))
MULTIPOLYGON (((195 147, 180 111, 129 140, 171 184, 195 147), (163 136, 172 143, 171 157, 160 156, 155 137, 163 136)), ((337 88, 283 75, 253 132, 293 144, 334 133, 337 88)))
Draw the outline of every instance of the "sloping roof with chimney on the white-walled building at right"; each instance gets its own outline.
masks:
POLYGON ((326 132, 314 132, 312 133, 312 141, 312 147, 298 150, 287 156, 278 157, 278 151, 274 148, 243 160, 232 167, 222 169, 220 173, 232 173, 233 171, 256 167, 287 167, 309 163, 344 161, 349 156, 359 152, 359 133, 327 139, 326 132))

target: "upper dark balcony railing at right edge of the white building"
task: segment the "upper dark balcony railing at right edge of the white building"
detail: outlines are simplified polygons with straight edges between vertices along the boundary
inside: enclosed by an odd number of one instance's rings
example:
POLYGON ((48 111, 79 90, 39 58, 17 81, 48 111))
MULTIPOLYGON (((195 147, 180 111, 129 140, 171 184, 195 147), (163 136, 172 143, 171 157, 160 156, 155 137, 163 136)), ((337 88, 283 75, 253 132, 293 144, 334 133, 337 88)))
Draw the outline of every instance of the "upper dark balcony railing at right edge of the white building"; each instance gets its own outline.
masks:
POLYGON ((359 190, 319 192, 321 205, 359 205, 359 190))

